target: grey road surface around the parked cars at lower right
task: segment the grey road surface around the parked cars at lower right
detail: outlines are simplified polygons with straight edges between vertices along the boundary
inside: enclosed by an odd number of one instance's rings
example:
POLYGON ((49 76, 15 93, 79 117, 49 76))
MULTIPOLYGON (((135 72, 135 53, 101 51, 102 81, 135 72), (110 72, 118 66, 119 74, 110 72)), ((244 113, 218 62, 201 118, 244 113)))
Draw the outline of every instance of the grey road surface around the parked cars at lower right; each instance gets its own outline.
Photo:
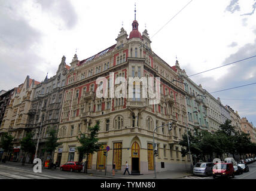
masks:
MULTIPOLYGON (((249 167, 249 172, 243 172, 243 174, 235 175, 234 178, 231 178, 231 179, 256 179, 256 162, 252 164, 248 164, 248 167, 249 167)), ((213 179, 213 178, 212 176, 203 177, 199 175, 191 175, 191 176, 184 177, 182 179, 213 179)))

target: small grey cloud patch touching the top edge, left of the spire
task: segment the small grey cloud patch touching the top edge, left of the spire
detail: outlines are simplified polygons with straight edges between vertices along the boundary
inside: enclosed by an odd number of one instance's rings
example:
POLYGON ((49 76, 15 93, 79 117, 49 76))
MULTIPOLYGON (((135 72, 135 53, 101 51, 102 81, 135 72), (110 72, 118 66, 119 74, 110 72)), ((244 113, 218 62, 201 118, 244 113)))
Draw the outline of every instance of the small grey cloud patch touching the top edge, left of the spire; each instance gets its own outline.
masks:
POLYGON ((68 0, 35 0, 41 5, 42 11, 52 15, 52 19, 59 17, 68 29, 75 27, 78 21, 74 7, 68 0))

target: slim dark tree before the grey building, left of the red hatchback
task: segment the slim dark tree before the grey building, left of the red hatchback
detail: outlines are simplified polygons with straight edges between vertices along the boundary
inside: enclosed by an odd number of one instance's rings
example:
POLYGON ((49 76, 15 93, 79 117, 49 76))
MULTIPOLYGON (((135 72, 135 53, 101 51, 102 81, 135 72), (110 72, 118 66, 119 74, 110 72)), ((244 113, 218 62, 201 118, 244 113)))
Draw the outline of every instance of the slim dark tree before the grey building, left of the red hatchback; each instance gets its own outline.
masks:
POLYGON ((49 168, 51 168, 51 161, 52 161, 52 155, 55 149, 60 146, 62 143, 58 143, 57 140, 57 130, 56 128, 50 128, 48 129, 48 135, 47 141, 45 142, 45 150, 50 153, 50 165, 49 168))

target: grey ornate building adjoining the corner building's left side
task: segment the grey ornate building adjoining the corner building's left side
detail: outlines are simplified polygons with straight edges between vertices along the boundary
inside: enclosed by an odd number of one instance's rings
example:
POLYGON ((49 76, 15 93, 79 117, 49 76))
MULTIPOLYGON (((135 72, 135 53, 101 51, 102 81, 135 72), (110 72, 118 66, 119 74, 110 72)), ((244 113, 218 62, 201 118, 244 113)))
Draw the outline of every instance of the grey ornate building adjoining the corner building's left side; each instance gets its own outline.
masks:
POLYGON ((66 84, 66 73, 69 66, 65 63, 65 56, 59 64, 56 75, 48 79, 48 74, 44 81, 33 87, 35 92, 32 97, 31 108, 29 109, 29 125, 33 128, 33 139, 38 140, 39 128, 41 127, 41 134, 38 144, 38 157, 42 160, 49 158, 45 150, 45 141, 48 137, 48 130, 56 128, 59 125, 60 113, 63 100, 63 86, 66 84))

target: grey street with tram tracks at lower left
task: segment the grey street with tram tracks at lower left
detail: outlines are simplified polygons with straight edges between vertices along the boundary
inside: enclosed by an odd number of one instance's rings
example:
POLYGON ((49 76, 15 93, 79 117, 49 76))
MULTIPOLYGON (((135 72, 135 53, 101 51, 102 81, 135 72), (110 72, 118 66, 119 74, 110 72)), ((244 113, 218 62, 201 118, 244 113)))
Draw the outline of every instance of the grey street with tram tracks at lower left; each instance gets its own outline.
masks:
POLYGON ((48 170, 44 168, 41 173, 35 173, 32 167, 0 164, 0 179, 103 179, 103 177, 91 176, 82 172, 48 170))

